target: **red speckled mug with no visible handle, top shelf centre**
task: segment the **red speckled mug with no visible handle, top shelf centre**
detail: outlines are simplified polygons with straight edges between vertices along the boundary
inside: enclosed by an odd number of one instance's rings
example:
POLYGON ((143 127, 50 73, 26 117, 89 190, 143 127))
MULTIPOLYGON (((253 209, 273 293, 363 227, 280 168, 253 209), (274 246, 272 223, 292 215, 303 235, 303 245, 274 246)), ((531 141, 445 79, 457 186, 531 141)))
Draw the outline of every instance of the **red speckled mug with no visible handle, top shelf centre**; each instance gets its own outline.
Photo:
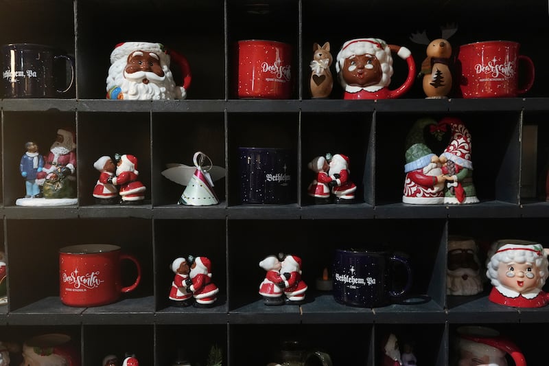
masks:
POLYGON ((238 98, 290 98, 291 45, 277 41, 238 41, 235 54, 238 98))

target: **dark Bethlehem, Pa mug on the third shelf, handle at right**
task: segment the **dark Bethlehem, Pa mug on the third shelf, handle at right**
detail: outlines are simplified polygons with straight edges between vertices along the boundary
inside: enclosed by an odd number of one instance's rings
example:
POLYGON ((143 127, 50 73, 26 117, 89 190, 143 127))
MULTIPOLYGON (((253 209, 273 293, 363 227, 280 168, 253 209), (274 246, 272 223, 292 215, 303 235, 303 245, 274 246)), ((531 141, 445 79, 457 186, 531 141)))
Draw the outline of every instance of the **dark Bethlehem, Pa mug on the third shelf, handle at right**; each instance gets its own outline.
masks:
POLYGON ((337 249, 333 279, 334 299, 338 303, 379 308, 408 293, 412 286, 412 268, 408 258, 388 251, 337 249), (397 271, 399 264, 406 275, 397 271), (398 275, 406 277, 401 288, 395 288, 400 286, 398 275))

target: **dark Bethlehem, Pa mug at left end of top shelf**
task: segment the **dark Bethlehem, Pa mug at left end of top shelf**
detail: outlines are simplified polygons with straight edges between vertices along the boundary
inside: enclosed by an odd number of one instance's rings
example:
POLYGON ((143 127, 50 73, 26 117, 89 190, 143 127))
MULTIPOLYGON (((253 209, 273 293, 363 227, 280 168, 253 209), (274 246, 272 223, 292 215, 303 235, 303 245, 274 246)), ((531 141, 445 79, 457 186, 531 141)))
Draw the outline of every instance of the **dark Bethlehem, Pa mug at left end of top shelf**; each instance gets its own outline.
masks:
POLYGON ((11 43, 1 47, 1 58, 3 98, 60 98, 74 84, 74 60, 62 49, 11 43))

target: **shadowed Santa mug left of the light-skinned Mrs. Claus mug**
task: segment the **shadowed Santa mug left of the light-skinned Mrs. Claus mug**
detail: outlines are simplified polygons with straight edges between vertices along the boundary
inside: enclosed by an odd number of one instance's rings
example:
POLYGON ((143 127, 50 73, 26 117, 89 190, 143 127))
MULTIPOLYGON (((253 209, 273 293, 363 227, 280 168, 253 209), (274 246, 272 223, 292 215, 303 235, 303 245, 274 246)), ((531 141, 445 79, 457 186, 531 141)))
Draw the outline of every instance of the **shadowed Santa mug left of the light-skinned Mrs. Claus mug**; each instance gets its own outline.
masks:
POLYGON ((476 295, 482 292, 478 246, 472 238, 449 236, 446 295, 476 295))

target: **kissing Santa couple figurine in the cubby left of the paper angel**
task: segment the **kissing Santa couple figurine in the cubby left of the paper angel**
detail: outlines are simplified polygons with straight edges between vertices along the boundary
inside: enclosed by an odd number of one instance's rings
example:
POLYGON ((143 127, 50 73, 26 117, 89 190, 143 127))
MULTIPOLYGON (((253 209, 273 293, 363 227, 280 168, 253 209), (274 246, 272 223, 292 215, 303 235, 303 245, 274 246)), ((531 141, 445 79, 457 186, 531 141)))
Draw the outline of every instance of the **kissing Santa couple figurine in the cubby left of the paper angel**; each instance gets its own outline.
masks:
POLYGON ((93 163, 100 176, 93 188, 95 203, 100 205, 141 205, 147 188, 139 181, 137 157, 124 154, 112 159, 104 155, 93 163), (115 163, 116 161, 116 163, 115 163))

